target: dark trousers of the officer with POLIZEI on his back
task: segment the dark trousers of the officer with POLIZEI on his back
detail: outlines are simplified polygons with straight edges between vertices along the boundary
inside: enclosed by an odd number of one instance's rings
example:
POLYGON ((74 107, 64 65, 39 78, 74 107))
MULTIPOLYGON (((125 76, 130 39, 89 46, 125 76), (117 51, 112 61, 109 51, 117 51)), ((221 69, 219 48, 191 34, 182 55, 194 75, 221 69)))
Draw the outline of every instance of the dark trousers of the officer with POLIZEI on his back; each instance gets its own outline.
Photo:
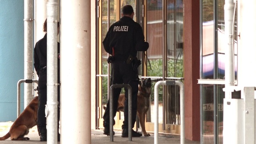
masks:
MULTIPOLYGON (((138 73, 132 70, 132 64, 126 64, 124 61, 114 61, 111 63, 111 85, 112 84, 129 84, 132 87, 132 128, 134 127, 137 114, 137 93, 138 93, 138 73)), ((118 98, 121 88, 114 88, 113 91, 113 114, 116 116, 118 98)), ((125 102, 124 102, 124 122, 122 128, 128 128, 128 89, 125 88, 125 102)), ((110 120, 110 106, 109 100, 103 116, 105 128, 109 128, 110 120)), ((114 118, 113 118, 114 120, 114 118)), ((115 124, 115 121, 114 121, 115 124)))

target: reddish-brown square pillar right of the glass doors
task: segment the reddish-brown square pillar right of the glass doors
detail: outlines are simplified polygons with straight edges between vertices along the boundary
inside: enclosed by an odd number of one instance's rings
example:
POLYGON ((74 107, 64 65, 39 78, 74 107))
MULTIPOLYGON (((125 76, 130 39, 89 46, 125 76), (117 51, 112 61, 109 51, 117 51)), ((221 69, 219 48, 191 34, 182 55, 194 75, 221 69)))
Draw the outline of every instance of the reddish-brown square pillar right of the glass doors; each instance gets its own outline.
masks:
POLYGON ((184 0, 185 138, 200 140, 200 1, 184 0))

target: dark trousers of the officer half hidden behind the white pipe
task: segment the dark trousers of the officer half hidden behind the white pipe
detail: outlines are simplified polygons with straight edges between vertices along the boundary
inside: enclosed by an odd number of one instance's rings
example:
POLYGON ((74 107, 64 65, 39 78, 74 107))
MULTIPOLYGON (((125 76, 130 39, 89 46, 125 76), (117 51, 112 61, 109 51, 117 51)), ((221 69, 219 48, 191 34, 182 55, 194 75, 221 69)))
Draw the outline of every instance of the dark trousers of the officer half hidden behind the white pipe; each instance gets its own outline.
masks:
MULTIPOLYGON (((45 117, 45 105, 47 102, 47 86, 46 86, 46 70, 44 72, 40 71, 40 76, 38 79, 38 129, 39 131, 46 130, 46 117, 45 117)), ((58 102, 60 102, 60 87, 58 86, 58 102)), ((60 108, 58 106, 58 122, 60 120, 60 108)), ((57 124, 59 128, 59 123, 57 124)))

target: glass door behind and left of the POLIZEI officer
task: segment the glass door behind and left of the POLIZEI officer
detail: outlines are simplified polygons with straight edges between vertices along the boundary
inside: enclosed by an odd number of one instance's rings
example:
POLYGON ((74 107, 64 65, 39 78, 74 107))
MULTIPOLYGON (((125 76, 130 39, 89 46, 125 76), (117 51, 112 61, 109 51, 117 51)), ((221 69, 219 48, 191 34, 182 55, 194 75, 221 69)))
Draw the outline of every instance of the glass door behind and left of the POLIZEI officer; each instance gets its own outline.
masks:
MULTIPOLYGON (((106 33, 108 32, 108 20, 110 20, 109 26, 118 21, 121 16, 122 6, 130 4, 136 10, 136 0, 101 0, 98 1, 98 50, 97 50, 97 128, 103 128, 103 115, 104 106, 108 102, 108 65, 107 58, 108 53, 105 52, 102 41, 104 40, 106 33), (109 1, 109 13, 108 17, 108 1, 109 1)), ((136 18, 136 16, 134 16, 136 18)), ((110 73, 110 72, 109 72, 110 73)), ((117 112, 115 119, 115 129, 122 129, 122 122, 124 120, 123 113, 117 112)))

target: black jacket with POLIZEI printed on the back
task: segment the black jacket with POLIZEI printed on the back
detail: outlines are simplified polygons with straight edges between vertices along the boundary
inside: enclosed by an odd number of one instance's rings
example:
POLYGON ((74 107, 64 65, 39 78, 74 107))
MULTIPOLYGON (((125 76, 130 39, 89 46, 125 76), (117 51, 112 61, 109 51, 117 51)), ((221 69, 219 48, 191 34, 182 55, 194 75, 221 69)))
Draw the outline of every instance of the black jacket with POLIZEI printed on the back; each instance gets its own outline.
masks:
POLYGON ((148 42, 144 40, 142 27, 128 16, 123 16, 110 26, 103 41, 106 52, 114 57, 126 60, 129 55, 136 57, 137 51, 148 50, 148 42))

